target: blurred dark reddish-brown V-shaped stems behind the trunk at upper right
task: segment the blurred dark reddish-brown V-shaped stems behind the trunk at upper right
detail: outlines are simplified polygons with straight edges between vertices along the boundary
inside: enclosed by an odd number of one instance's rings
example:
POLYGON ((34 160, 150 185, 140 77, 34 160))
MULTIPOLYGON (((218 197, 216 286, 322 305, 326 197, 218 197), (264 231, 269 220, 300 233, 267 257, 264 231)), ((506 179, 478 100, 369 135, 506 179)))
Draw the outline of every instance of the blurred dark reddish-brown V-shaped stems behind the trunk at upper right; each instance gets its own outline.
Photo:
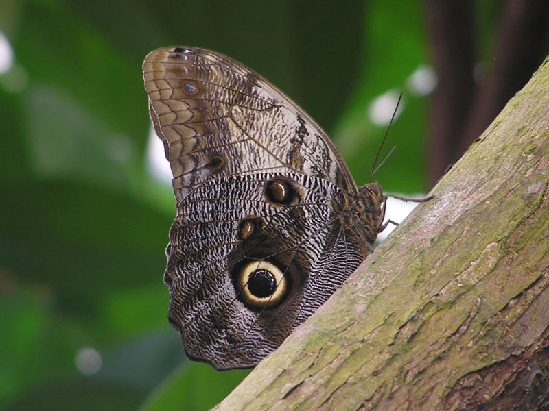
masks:
POLYGON ((432 60, 439 83, 432 97, 430 181, 460 158, 549 51, 549 1, 509 0, 487 74, 474 83, 474 4, 425 0, 432 60))

